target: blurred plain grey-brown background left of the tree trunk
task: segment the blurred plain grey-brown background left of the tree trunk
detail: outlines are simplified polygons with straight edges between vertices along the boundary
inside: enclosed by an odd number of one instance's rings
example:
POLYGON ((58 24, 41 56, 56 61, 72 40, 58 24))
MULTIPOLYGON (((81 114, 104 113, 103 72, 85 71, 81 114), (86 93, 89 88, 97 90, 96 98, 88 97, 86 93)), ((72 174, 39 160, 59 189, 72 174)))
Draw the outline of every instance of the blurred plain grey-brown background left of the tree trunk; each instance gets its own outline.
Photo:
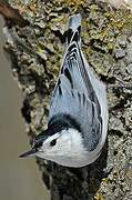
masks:
POLYGON ((20 113, 21 91, 12 79, 10 60, 2 50, 4 22, 0 17, 0 199, 49 200, 35 159, 18 156, 29 148, 20 113))

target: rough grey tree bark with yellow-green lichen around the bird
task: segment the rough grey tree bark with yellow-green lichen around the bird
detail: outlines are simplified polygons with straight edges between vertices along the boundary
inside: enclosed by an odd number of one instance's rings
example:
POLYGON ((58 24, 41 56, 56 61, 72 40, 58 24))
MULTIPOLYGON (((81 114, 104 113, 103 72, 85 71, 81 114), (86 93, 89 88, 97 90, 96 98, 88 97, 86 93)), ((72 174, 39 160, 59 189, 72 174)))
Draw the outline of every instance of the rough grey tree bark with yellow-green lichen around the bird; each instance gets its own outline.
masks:
POLYGON ((30 142, 47 126, 49 98, 61 64, 70 14, 82 14, 82 50, 108 84, 109 134, 101 157, 82 169, 37 159, 51 199, 132 199, 131 12, 88 0, 33 0, 27 6, 10 0, 10 4, 30 22, 4 30, 13 77, 24 96, 21 111, 30 142))

